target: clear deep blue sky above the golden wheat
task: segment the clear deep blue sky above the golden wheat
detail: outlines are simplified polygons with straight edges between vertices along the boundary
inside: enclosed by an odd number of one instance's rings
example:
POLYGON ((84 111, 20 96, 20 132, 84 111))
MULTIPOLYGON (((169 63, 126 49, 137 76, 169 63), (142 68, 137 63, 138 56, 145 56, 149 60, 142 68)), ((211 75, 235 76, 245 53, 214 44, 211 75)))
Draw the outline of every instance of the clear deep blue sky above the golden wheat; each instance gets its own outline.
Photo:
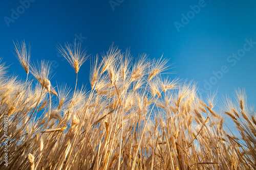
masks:
MULTIPOLYGON (((130 47, 134 57, 147 53, 153 59, 163 54, 174 66, 169 72, 176 73, 169 77, 194 80, 202 96, 218 90, 221 101, 234 89, 245 88, 248 103, 255 104, 255 9, 256 1, 246 0, 1 1, 0 57, 10 65, 9 74, 26 80, 12 42, 25 40, 31 45, 31 60, 53 62, 53 86, 57 81, 74 87, 75 71, 56 45, 76 38, 93 58, 114 42, 122 50, 130 47), (243 57, 229 57, 236 53, 243 57)), ((79 70, 79 87, 90 89, 89 74, 90 60, 79 70)))

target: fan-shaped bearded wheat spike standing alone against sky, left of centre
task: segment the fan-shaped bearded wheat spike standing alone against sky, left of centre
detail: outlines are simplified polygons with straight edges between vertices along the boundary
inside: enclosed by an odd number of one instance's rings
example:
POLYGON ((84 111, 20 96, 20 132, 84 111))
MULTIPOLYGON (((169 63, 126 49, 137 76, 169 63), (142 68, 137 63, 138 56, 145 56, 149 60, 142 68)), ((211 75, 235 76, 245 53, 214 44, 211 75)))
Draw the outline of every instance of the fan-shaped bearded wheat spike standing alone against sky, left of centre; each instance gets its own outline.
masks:
POLYGON ((78 42, 74 44, 65 43, 65 47, 57 46, 57 50, 59 53, 65 57, 70 65, 74 68, 77 73, 80 69, 80 66, 88 59, 89 55, 87 55, 86 51, 81 51, 81 43, 78 42))

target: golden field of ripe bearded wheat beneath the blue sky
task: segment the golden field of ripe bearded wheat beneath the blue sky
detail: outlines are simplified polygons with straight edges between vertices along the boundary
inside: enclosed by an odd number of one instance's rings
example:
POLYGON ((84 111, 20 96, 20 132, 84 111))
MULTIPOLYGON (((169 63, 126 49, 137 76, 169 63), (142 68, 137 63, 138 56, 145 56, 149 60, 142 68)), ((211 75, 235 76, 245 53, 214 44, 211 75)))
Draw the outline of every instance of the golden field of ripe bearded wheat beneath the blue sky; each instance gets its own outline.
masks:
POLYGON ((255 110, 244 90, 236 101, 203 100, 195 83, 162 74, 168 60, 133 62, 114 45, 91 57, 90 90, 78 88, 89 62, 79 44, 57 47, 76 73, 74 90, 53 87, 51 62, 31 62, 30 47, 14 44, 27 79, 7 76, 1 60, 0 169, 256 169, 255 110))

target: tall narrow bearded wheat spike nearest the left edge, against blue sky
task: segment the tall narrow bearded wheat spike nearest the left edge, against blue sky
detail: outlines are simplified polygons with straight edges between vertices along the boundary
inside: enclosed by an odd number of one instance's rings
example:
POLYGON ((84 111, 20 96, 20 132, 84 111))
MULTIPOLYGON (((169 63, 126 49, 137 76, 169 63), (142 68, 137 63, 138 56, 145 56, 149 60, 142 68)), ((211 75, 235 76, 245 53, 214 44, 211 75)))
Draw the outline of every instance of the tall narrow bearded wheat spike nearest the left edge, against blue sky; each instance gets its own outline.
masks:
POLYGON ((20 42, 20 44, 17 42, 15 43, 15 56, 19 60, 20 64, 23 66, 25 69, 26 73, 29 74, 29 61, 30 61, 30 45, 27 45, 25 43, 25 40, 20 42))

